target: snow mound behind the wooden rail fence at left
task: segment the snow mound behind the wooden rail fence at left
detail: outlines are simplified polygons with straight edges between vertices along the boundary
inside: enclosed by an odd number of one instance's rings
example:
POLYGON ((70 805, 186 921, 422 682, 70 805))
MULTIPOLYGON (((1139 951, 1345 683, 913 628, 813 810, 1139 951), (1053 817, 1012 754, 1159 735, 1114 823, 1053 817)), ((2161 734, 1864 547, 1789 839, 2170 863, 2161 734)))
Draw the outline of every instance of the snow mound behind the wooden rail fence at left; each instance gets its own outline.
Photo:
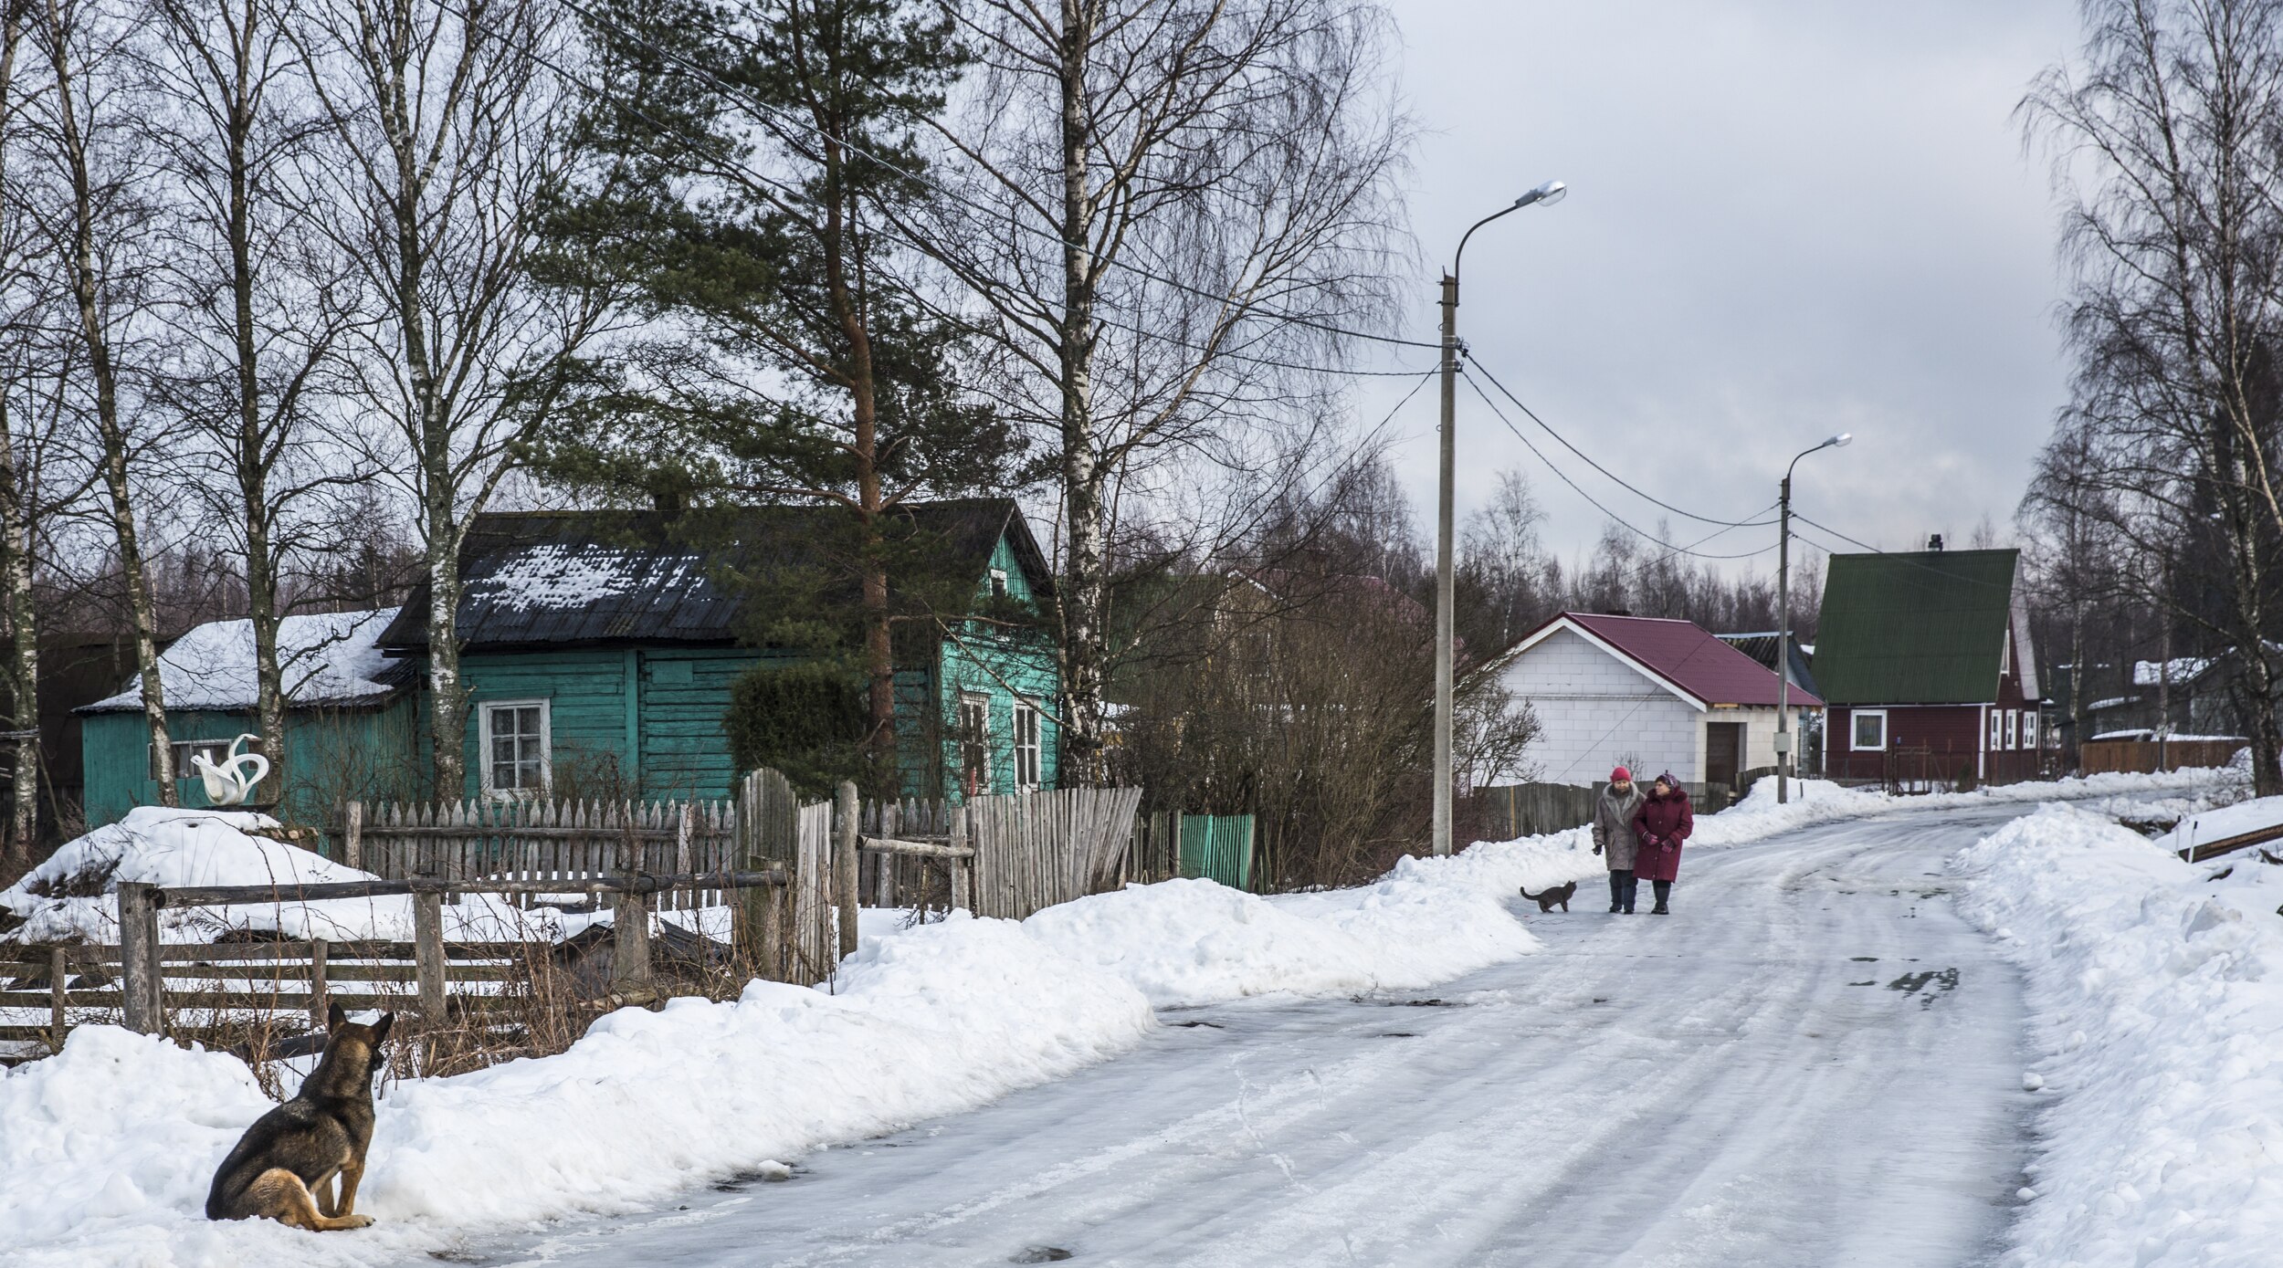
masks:
MULTIPOLYGON (((276 819, 242 810, 164 810, 142 805, 55 851, 16 885, 0 908, 23 917, 23 942, 119 942, 119 883, 146 885, 290 885, 374 880, 322 855, 263 837, 276 819)), ((160 940, 212 942, 228 930, 274 930, 331 942, 409 942, 411 899, 326 899, 320 903, 249 903, 233 908, 162 908, 160 940)), ((518 910, 491 894, 445 908, 445 937, 491 940, 509 930, 555 935, 550 908, 518 910)))

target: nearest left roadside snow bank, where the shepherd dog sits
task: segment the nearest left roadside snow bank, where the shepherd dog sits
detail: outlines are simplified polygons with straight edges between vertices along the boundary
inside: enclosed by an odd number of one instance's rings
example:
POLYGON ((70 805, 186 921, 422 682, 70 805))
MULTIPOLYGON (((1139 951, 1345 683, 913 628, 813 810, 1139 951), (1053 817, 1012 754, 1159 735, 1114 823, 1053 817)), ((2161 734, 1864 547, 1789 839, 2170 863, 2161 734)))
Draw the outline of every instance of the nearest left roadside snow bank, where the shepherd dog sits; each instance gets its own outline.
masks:
POLYGON ((571 1051, 381 1102, 358 1234, 203 1218, 215 1165, 269 1108, 244 1065, 110 1026, 0 1076, 9 1263, 379 1263, 457 1234, 637 1211, 694 1184, 979 1106, 1139 1042, 1148 1001, 1011 921, 868 942, 838 992, 626 1008, 571 1051))

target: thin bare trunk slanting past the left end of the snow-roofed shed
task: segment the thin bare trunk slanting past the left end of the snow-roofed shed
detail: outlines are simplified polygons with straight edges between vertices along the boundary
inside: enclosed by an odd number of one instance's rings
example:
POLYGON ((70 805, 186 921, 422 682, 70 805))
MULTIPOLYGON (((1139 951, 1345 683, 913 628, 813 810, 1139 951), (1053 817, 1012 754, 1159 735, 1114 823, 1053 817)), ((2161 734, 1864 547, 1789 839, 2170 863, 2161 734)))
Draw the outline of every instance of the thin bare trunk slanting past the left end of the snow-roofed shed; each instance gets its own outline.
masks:
POLYGON ((119 424, 119 367, 112 363, 110 335, 103 328, 96 276, 96 196, 87 166, 87 137, 80 132, 73 103, 68 32, 48 0, 53 39, 55 98, 59 141, 71 171, 71 294, 78 301, 78 335, 87 347, 87 369, 96 388, 96 436, 103 445, 100 472, 110 495, 112 534, 119 540, 119 572, 128 588, 128 620, 135 627, 135 670, 142 675, 144 723, 151 730, 151 766, 158 775, 160 805, 180 805, 174 785, 174 743, 167 734, 167 689, 158 677, 158 611, 151 598, 151 570, 144 563, 142 538, 135 531, 135 493, 128 479, 128 436, 119 424))

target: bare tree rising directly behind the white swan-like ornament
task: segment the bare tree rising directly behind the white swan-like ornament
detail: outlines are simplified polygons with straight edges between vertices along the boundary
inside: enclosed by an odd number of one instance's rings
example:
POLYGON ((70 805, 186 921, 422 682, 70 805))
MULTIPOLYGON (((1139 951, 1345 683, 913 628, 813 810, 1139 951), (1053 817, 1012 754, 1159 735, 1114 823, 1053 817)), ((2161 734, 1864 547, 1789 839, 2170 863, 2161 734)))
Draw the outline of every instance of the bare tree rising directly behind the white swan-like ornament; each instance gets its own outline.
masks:
POLYGON ((164 162, 171 344, 153 397, 210 436, 194 481, 237 525, 256 730, 283 769, 281 579, 306 504, 356 479, 315 417, 356 299, 304 196, 315 119, 292 0, 158 0, 144 125, 164 162))

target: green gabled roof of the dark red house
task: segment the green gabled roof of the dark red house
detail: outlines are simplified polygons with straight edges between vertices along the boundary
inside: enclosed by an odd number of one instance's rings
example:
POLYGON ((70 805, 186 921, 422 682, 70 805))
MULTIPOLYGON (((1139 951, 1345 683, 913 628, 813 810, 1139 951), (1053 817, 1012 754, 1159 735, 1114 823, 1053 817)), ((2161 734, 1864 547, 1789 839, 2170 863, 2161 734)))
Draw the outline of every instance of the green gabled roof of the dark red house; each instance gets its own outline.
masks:
POLYGON ((1824 702, 1995 700, 2018 554, 1833 554, 1815 623, 1815 686, 1824 702))

